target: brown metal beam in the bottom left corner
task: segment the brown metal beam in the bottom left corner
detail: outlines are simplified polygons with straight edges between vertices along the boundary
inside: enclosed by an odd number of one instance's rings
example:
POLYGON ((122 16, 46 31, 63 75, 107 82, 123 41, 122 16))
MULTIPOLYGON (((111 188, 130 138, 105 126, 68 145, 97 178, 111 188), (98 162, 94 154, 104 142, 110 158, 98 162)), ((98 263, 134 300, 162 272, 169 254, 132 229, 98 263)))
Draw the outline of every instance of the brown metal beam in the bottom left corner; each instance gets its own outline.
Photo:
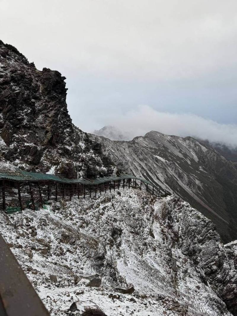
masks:
POLYGON ((0 235, 0 315, 50 316, 0 235))

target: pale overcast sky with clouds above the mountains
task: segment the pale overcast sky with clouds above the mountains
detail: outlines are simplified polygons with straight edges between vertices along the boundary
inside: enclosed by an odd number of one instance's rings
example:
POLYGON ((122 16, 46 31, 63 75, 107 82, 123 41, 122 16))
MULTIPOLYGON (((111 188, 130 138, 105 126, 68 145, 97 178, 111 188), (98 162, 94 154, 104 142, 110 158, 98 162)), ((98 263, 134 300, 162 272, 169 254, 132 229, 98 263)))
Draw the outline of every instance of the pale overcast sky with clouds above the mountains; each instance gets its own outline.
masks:
POLYGON ((3 42, 66 76, 83 131, 126 121, 237 145, 236 0, 0 0, 0 13, 3 42))

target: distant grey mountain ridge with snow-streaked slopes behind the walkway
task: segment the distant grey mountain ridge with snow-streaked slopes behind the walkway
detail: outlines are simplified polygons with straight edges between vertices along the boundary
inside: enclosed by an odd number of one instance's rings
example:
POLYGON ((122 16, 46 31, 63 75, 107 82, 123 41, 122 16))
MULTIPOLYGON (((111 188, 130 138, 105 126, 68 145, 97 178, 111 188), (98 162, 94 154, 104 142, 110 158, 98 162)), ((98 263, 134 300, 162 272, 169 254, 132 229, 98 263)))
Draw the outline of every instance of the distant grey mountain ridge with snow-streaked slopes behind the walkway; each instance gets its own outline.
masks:
POLYGON ((237 169, 191 137, 151 131, 132 141, 90 135, 118 168, 177 194, 210 218, 225 242, 237 239, 237 169))

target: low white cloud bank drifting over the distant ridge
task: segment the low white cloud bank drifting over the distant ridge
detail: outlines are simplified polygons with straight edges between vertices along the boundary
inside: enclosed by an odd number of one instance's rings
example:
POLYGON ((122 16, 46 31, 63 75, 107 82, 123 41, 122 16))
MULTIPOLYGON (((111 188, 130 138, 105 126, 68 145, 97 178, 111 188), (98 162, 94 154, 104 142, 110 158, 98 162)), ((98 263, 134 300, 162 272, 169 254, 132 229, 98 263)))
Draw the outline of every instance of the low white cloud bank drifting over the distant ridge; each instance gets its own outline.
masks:
POLYGON ((220 124, 193 114, 159 112, 150 106, 138 106, 136 110, 116 115, 104 121, 123 131, 127 139, 143 136, 149 131, 159 131, 181 137, 192 136, 237 146, 237 125, 220 124))

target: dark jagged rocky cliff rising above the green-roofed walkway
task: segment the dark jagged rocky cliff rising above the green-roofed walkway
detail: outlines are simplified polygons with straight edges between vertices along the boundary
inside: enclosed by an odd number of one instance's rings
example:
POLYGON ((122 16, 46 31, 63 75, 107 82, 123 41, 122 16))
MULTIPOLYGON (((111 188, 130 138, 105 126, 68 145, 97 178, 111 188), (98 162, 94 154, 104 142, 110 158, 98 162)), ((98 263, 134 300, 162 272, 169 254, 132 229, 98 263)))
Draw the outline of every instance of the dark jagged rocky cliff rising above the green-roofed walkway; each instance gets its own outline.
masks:
POLYGON ((39 71, 11 45, 0 41, 0 155, 28 171, 69 178, 111 172, 100 146, 75 127, 58 71, 39 71))

